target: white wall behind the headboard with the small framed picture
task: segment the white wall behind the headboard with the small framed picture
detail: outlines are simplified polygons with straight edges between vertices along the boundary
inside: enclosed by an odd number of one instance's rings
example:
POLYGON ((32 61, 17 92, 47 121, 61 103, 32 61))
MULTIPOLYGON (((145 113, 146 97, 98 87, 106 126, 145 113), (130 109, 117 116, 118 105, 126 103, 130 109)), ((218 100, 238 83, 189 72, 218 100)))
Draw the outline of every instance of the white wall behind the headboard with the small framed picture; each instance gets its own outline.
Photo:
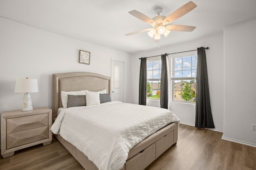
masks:
MULTIPOLYGON (((111 76, 111 57, 126 60, 130 68, 132 55, 128 53, 5 18, 0 18, 0 25, 0 113, 22 108, 24 94, 14 93, 17 78, 38 79, 39 92, 31 93, 32 105, 52 108, 53 73, 85 71, 111 76), (91 53, 90 65, 78 63, 79 50, 91 53)), ((132 102, 127 95, 126 101, 132 102)))

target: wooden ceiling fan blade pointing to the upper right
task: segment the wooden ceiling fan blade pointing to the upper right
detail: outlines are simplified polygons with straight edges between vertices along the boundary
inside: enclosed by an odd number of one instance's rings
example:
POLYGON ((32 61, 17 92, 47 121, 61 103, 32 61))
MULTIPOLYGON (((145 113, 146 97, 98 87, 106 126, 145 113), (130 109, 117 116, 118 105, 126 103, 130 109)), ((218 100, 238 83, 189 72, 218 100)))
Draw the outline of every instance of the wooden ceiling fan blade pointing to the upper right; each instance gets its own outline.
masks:
POLYGON ((187 14, 194 8, 196 8, 196 6, 197 5, 194 4, 194 2, 190 1, 190 2, 186 3, 185 5, 183 5, 182 7, 180 7, 178 10, 174 11, 168 17, 166 17, 162 23, 164 23, 164 25, 171 23, 171 22, 177 20, 178 18, 184 16, 185 14, 187 14))

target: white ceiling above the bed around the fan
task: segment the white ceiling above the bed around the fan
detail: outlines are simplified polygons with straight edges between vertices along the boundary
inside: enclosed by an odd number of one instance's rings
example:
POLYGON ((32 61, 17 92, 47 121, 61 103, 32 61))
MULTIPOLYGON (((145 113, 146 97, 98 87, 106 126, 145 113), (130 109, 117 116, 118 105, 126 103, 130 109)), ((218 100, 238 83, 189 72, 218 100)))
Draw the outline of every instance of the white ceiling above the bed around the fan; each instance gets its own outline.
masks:
MULTIPOLYGON (((153 18, 161 7, 168 16, 189 0, 0 0, 0 16, 68 37, 131 54, 158 48, 147 32, 124 34, 151 25, 128 12, 153 18)), ((172 22, 196 26, 192 32, 171 31, 161 36, 160 47, 220 35, 234 23, 256 19, 256 0, 193 0, 197 7, 172 22)))

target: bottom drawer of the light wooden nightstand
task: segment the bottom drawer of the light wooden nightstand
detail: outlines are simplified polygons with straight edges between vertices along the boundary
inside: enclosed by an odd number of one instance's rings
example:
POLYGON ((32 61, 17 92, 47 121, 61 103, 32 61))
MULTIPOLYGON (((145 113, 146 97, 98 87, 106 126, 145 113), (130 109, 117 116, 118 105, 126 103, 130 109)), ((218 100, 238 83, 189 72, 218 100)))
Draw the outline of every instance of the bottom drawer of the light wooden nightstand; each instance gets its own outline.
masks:
POLYGON ((48 126, 7 134, 7 149, 48 138, 48 126))

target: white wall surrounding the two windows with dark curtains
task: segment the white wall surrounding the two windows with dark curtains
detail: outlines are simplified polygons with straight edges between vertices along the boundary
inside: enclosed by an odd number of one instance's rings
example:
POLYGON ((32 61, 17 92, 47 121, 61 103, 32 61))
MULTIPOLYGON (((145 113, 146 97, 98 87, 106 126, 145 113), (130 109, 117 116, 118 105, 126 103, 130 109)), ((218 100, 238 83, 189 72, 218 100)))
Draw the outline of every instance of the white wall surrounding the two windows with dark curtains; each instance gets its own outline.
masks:
MULTIPOLYGON (((170 35, 169 35, 170 36, 170 35)), ((152 39, 152 45, 154 41, 152 39)), ((161 41, 160 41, 161 46, 161 41)), ((141 57, 150 57, 164 53, 176 53, 197 49, 197 47, 209 47, 206 50, 206 60, 208 68, 208 81, 210 89, 210 102, 212 107, 212 117, 214 120, 215 130, 223 131, 224 119, 224 52, 223 52, 223 35, 199 39, 192 42, 186 42, 169 47, 155 48, 152 51, 142 52, 133 59, 133 96, 134 103, 138 104, 139 92, 139 72, 141 57)), ((170 61, 170 59, 169 59, 170 61)), ((160 107, 160 101, 147 100, 148 106, 160 107)), ((195 124, 195 104, 182 104, 170 102, 170 110, 173 111, 182 123, 188 125, 195 124)))

